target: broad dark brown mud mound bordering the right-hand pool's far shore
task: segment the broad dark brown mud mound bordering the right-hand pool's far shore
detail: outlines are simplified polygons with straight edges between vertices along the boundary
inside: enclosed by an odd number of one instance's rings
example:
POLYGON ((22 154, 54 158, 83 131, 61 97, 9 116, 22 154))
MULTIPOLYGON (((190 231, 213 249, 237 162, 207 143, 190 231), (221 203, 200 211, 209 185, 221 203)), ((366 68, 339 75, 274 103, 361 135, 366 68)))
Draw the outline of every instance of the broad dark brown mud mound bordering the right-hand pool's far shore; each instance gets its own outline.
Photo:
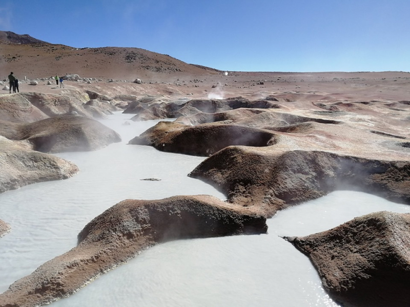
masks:
POLYGON ((228 195, 230 203, 252 207, 267 216, 338 189, 360 190, 410 204, 408 161, 271 148, 224 148, 189 176, 213 184, 228 195))

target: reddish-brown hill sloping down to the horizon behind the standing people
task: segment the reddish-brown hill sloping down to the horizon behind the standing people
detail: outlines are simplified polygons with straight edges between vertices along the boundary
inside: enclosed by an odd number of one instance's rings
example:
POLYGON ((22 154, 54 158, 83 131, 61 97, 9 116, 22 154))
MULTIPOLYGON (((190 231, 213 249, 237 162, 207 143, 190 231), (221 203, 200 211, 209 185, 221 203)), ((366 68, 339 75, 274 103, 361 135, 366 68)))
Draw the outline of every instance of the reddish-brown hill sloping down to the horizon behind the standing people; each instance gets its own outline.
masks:
POLYGON ((0 32, 0 68, 7 77, 18 72, 20 79, 78 74, 81 77, 101 79, 136 78, 165 81, 170 75, 207 75, 219 71, 188 64, 166 54, 139 48, 73 48, 54 45, 27 34, 0 32))

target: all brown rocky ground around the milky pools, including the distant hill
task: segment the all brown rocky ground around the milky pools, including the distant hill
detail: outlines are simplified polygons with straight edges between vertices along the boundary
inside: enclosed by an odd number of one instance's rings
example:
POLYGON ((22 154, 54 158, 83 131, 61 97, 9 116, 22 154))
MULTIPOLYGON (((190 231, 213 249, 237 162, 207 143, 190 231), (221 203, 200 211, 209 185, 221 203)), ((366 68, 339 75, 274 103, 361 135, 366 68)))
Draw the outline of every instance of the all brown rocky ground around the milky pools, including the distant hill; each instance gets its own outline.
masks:
MULTIPOLYGON (((79 50, 8 33, 0 38, 2 72, 24 80, 20 93, 0 94, 0 192, 72 176, 74 165, 35 150, 107 146, 118 136, 94 119, 124 110, 135 121, 176 119, 129 146, 208 157, 189 176, 228 196, 121 202, 80 232, 77 247, 13 283, 0 295, 1 307, 70 295, 165 240, 263 233, 266 217, 334 190, 410 204, 409 73, 221 72, 136 48, 79 50), (55 74, 67 74, 64 89, 50 79, 55 74)), ((288 239, 311 257, 337 301, 402 306, 410 298, 392 297, 408 283, 407 220, 378 213, 288 239), (373 286, 379 302, 370 301, 373 286)))

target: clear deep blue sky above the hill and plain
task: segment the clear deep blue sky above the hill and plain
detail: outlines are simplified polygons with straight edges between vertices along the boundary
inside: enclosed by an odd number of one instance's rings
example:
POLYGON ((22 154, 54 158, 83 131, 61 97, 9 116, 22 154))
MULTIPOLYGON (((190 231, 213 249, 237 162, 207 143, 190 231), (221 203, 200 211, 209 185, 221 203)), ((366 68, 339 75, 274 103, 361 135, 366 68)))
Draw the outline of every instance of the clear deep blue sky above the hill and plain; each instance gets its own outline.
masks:
POLYGON ((410 0, 0 0, 0 30, 229 71, 410 71, 410 0))

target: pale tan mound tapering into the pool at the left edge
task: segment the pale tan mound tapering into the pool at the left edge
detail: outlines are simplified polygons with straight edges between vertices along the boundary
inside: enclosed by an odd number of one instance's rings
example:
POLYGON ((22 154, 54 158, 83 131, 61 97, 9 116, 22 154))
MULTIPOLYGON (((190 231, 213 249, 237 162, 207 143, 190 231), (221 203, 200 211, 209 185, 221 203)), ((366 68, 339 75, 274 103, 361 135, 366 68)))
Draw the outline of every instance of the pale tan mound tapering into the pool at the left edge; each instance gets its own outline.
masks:
POLYGON ((71 162, 0 136, 0 193, 36 182, 67 179, 77 172, 71 162))

